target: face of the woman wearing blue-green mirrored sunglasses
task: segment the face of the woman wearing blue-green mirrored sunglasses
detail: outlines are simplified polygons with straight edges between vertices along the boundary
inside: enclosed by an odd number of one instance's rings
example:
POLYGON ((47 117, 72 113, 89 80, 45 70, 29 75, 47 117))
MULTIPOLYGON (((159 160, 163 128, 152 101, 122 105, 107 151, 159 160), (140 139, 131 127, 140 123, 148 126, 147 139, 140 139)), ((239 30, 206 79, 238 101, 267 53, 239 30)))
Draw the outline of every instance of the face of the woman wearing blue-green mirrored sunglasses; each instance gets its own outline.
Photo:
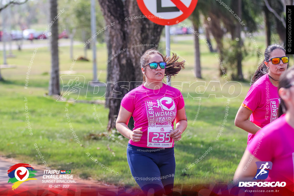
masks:
MULTIPOLYGON (((149 56, 147 64, 161 62, 163 62, 163 58, 159 54, 155 53, 149 56)), ((146 75, 146 82, 151 83, 162 81, 164 78, 165 69, 161 69, 158 65, 156 69, 151 69, 149 65, 146 65, 145 69, 142 68, 142 73, 146 75)))

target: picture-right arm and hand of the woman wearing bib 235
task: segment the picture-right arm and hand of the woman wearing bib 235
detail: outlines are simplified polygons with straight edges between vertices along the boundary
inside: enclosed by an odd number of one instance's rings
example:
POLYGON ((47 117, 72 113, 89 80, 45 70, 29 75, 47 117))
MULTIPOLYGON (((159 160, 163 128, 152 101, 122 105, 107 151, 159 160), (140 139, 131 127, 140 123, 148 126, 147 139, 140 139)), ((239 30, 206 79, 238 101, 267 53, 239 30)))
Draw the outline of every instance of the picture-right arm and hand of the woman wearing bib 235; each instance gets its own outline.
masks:
POLYGON ((177 111, 175 121, 176 121, 176 129, 172 130, 169 135, 171 136, 171 138, 177 141, 182 138, 181 134, 184 132, 184 130, 187 128, 187 125, 188 125, 185 107, 177 111))

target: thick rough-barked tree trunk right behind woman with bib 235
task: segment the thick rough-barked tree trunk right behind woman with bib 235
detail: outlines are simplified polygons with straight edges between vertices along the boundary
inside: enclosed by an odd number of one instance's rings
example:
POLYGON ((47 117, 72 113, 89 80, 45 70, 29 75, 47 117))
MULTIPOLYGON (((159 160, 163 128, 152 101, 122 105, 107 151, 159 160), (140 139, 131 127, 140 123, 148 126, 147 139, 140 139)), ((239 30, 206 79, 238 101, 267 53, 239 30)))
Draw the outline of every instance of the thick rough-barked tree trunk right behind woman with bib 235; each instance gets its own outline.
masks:
MULTIPOLYGON (((113 59, 107 65, 107 82, 114 84, 106 86, 106 99, 109 99, 106 105, 109 107, 107 129, 112 130, 115 128, 121 98, 138 84, 130 81, 142 81, 140 57, 147 49, 158 45, 164 26, 154 24, 146 18, 125 20, 129 16, 143 15, 136 0, 98 1, 106 26, 110 25, 107 41, 108 60, 111 57, 113 59), (154 46, 136 47, 138 44, 154 46), (122 85, 129 86, 129 89, 122 88, 122 85)), ((129 127, 133 127, 130 123, 129 127)))

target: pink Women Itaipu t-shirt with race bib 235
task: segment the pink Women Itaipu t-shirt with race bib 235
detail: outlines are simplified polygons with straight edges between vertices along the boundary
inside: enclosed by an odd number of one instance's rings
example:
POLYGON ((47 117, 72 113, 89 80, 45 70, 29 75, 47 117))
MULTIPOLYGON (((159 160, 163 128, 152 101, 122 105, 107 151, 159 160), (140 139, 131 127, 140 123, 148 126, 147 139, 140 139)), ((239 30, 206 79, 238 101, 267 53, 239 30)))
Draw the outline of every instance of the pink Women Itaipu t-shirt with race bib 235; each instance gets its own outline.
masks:
POLYGON ((177 110, 185 106, 181 92, 163 83, 153 90, 138 86, 121 100, 121 106, 132 113, 133 130, 142 127, 139 142, 129 140, 131 145, 146 148, 171 148, 174 141, 168 133, 173 130, 177 110))

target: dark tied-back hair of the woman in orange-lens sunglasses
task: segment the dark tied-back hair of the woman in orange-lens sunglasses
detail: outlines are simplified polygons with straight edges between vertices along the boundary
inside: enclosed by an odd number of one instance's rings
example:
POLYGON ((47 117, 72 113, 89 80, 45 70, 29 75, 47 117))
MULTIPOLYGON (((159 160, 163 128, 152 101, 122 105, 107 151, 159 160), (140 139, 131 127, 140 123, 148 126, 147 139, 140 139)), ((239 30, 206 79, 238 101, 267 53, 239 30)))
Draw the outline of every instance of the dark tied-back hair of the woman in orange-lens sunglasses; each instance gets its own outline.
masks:
POLYGON ((268 73, 268 68, 266 67, 264 61, 268 61, 270 59, 270 54, 275 50, 275 49, 281 49, 286 53, 286 50, 284 49, 283 44, 272 44, 268 46, 265 51, 264 51, 264 60, 258 65, 257 70, 253 74, 251 78, 251 85, 255 83, 255 81, 258 80, 261 76, 265 75, 268 73))

